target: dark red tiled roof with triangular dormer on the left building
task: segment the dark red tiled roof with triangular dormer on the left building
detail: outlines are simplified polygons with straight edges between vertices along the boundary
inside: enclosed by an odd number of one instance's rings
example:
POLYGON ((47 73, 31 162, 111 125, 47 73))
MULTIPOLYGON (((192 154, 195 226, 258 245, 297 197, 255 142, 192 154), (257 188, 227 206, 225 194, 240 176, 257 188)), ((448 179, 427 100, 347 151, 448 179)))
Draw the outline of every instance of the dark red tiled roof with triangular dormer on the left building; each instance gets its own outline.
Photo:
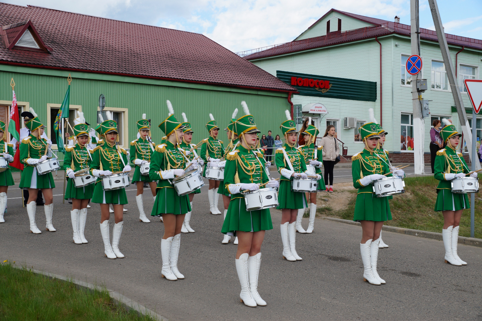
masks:
MULTIPOLYGON (((32 22, 52 52, 9 50, 2 41, 0 63, 296 91, 201 34, 0 3, 0 26, 25 20, 32 22)), ((14 33, 17 28, 6 31, 14 33)))

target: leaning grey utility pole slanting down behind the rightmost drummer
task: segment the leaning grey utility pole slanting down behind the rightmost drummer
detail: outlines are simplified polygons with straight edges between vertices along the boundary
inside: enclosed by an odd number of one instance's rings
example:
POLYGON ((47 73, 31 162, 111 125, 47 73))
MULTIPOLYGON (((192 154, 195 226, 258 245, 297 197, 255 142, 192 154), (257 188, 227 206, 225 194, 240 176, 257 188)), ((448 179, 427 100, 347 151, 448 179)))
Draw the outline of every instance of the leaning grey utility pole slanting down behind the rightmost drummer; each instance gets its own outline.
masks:
MULTIPOLYGON (((458 119, 460 120, 460 125, 462 126, 462 133, 464 134, 464 139, 467 143, 467 148, 469 150, 469 157, 472 161, 472 166, 475 164, 476 169, 480 169, 480 163, 472 156, 472 136, 469 132, 469 120, 467 119, 467 114, 465 113, 464 102, 462 101, 462 95, 456 83, 457 78, 454 71, 454 65, 452 64, 452 58, 450 57, 449 47, 447 45, 447 39, 445 38, 445 32, 443 32, 442 18, 440 17, 439 7, 437 6, 436 0, 428 0, 428 5, 430 6, 430 11, 432 12, 433 24, 435 30, 437 31, 437 38, 439 40, 440 50, 442 52, 443 63, 445 64, 445 71, 447 72, 447 77, 449 79, 450 90, 454 96, 455 107, 457 108, 458 119)), ((476 123, 472 123, 475 127, 476 123)), ((463 144, 463 142, 460 142, 463 144)))

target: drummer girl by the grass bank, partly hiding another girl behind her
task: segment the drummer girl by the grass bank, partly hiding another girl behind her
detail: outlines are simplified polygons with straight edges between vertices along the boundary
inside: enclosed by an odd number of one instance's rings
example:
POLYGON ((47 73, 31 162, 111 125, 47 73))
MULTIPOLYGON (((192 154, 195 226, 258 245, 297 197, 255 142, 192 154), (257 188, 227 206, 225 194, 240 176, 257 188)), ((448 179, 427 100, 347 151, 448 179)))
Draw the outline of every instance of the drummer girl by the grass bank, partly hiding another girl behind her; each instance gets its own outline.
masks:
MULTIPOLYGON (((360 252, 363 262, 363 281, 371 284, 385 284, 376 271, 378 259, 378 245, 383 222, 391 220, 390 205, 387 197, 375 197, 372 182, 385 178, 390 169, 381 160, 375 149, 378 144, 378 130, 375 122, 368 122, 359 128, 365 148, 354 155, 351 165, 353 187, 358 189, 355 203, 354 221, 362 223, 362 241, 360 252)), ((395 170, 393 174, 404 176, 402 170, 395 170)), ((387 176, 392 176, 388 174, 387 176)))

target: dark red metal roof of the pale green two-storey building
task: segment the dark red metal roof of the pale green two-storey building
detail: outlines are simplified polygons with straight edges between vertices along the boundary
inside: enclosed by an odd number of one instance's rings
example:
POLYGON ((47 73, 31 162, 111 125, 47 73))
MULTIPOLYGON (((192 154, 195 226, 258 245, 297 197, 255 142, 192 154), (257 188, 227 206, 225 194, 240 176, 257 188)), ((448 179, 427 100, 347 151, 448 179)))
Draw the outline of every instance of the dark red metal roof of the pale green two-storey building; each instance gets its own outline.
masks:
MULTIPOLYGON (((332 9, 332 10, 335 10, 335 9, 332 9)), ((272 48, 269 48, 267 50, 257 51, 253 54, 248 54, 244 56, 244 59, 252 60, 252 59, 264 58, 264 57, 269 57, 269 56, 274 56, 279 54, 289 54, 297 51, 319 48, 319 47, 334 45, 338 43, 369 39, 369 38, 374 38, 376 36, 379 37, 379 36, 388 35, 391 33, 410 36, 410 26, 408 25, 385 21, 381 19, 364 17, 362 15, 353 14, 353 13, 345 13, 342 11, 337 11, 337 12, 347 14, 354 18, 367 21, 370 23, 374 23, 374 24, 375 22, 378 22, 378 23, 375 24, 375 26, 371 26, 371 27, 363 27, 363 28, 348 30, 344 32, 331 32, 325 36, 286 42, 281 45, 273 46, 272 48), (380 23, 380 21, 382 23, 380 23)), ((326 14, 324 16, 326 16, 326 14)), ((311 27, 313 26, 314 25, 312 25, 311 27)), ((449 44, 466 46, 469 48, 482 50, 482 40, 479 40, 479 39, 460 37, 460 36, 455 36, 451 34, 445 34, 445 38, 447 39, 447 43, 449 44)), ((424 29, 424 28, 420 28, 420 39, 433 40, 438 42, 437 33, 433 30, 424 29)))

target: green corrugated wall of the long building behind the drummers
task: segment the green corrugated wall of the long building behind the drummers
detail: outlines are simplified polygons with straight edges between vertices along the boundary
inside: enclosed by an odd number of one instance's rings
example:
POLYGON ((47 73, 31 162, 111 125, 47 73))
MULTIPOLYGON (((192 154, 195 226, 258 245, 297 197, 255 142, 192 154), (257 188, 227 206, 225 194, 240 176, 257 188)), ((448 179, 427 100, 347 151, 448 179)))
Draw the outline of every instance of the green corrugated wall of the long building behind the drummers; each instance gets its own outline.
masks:
MULTIPOLYGON (((67 75, 66 71, 0 65, 0 100, 12 100, 12 89, 9 84, 13 77, 17 100, 29 102, 40 120, 46 124, 47 104, 62 103, 67 90, 67 75), (17 69, 22 72, 12 71, 17 69), (59 77, 60 75, 64 77, 59 77)), ((162 133, 157 126, 167 117, 166 99, 172 102, 178 120, 182 121, 181 113, 186 113, 195 131, 193 142, 196 143, 208 136, 205 124, 210 120, 209 113, 214 115, 219 127, 224 129, 234 108, 240 109, 238 117, 244 115, 242 100, 246 101, 262 133, 268 134, 268 130, 272 130, 273 136, 281 134, 279 126, 285 120, 284 110, 290 108, 286 99, 287 94, 284 93, 180 82, 172 82, 170 86, 162 85, 169 83, 167 81, 87 73, 72 73, 72 79, 70 104, 82 106, 87 122, 96 123, 96 108, 100 94, 106 96, 106 107, 129 108, 129 141, 136 137, 135 122, 142 117, 142 113, 146 113, 147 118, 152 119, 153 141, 161 140, 162 133)), ((219 137, 226 145, 225 133, 220 131, 219 137)))

